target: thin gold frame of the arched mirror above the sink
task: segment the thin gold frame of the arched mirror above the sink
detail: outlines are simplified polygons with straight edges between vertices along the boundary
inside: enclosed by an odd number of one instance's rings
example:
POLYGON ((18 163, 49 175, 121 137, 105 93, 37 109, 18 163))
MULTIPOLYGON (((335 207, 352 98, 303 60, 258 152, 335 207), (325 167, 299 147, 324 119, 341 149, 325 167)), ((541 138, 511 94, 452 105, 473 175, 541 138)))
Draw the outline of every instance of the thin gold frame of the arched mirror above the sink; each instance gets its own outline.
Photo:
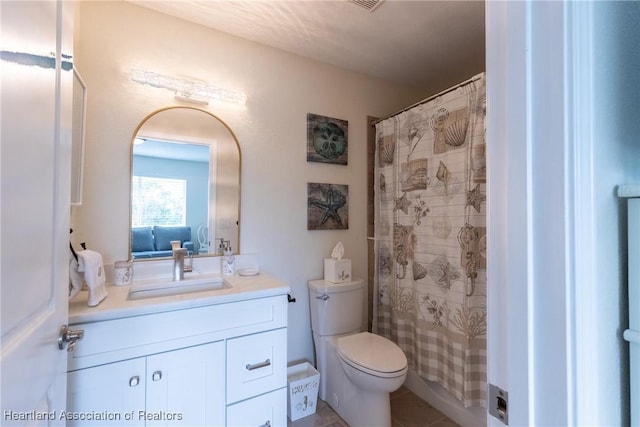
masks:
MULTIPOLYGON (((152 111, 151 113, 147 114, 146 116, 144 116, 144 118, 140 121, 140 123, 138 123, 138 125, 136 126, 136 128, 133 131, 133 134, 131 136, 131 139, 129 141, 129 245, 128 245, 128 255, 127 255, 127 259, 129 261, 134 261, 134 262, 145 262, 145 261, 159 261, 159 260, 166 260, 166 259, 171 259, 170 257, 158 257, 158 258, 138 258, 138 259, 134 259, 131 256, 131 221, 132 221, 132 216, 131 216, 131 206, 133 206, 133 194, 132 194, 132 181, 133 181, 133 142, 136 139, 136 136, 138 135, 138 132, 140 131, 140 129, 142 128, 142 126, 144 126, 144 124, 147 122, 147 120, 149 120, 151 117, 155 116, 158 113, 162 113, 163 111, 168 111, 168 110, 176 110, 176 109, 186 109, 186 110, 194 110, 194 111, 199 111, 202 113, 207 114, 208 116, 211 116, 211 118, 213 118, 214 120, 219 121, 226 129, 227 131, 231 134, 231 136, 233 137, 233 140, 236 143, 236 147, 238 148, 238 220, 237 220, 237 226, 238 226, 238 244, 236 245, 236 248, 233 250, 233 253, 235 255, 239 255, 240 254, 240 241, 241 241, 241 225, 242 225, 242 221, 240 221, 240 218, 242 217, 242 210, 241 210, 241 206, 242 206, 242 150, 240 149, 240 142, 238 141, 238 137, 236 136, 236 134, 233 132, 233 130, 231 130, 231 128, 229 127, 229 125, 222 120, 220 117, 216 116, 215 114, 204 110, 202 108, 198 108, 198 107, 192 107, 189 105, 171 105, 168 107, 162 107, 159 108, 157 110, 152 111)), ((220 257, 221 255, 218 255, 217 253, 213 254, 194 254, 194 257, 220 257)))

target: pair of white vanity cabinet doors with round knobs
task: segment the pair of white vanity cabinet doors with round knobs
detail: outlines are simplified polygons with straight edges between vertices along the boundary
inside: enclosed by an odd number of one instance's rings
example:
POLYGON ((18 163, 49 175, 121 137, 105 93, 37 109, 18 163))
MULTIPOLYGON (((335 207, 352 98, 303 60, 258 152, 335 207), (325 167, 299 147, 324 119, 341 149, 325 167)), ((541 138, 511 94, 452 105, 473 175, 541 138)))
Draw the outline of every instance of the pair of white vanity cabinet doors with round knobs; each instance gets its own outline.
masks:
POLYGON ((221 426, 224 377, 224 341, 73 371, 67 425, 221 426))

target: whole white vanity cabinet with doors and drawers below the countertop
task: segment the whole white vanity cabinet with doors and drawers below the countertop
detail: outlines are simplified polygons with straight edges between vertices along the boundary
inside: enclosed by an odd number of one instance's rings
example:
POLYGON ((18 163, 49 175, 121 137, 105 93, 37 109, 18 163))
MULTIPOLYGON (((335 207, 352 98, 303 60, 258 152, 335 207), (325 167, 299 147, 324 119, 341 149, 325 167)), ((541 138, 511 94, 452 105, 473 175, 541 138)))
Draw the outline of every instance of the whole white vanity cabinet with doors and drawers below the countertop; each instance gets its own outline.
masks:
POLYGON ((286 426, 286 326, 286 294, 72 324, 67 425, 286 426))

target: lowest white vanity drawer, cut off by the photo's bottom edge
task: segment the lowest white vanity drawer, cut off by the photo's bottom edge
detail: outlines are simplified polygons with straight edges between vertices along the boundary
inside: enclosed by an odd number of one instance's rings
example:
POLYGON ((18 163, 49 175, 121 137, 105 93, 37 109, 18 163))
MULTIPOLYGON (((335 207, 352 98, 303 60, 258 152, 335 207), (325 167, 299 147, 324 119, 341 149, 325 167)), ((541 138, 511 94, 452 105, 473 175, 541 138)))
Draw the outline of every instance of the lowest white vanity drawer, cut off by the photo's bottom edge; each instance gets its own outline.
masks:
POLYGON ((286 387, 227 406, 227 427, 286 425, 286 387))

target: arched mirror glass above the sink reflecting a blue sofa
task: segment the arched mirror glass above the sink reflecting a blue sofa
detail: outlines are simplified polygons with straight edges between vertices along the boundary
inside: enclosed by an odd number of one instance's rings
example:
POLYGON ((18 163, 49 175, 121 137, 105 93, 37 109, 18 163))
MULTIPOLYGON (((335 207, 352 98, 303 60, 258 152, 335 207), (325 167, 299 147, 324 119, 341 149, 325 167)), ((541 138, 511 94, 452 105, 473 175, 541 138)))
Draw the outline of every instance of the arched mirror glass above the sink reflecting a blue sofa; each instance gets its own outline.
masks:
POLYGON ((145 117, 131 141, 130 256, 239 253, 240 145, 213 114, 168 107, 145 117))

